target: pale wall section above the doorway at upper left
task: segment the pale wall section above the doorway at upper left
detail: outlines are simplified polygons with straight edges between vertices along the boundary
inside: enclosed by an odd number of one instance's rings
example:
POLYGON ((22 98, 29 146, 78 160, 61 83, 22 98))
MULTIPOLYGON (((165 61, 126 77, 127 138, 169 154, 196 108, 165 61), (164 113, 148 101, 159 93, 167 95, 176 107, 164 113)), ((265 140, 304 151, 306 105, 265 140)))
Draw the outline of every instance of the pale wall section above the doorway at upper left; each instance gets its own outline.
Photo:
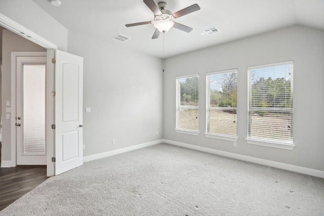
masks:
POLYGON ((67 29, 31 0, 1 0, 0 13, 67 50, 67 29))

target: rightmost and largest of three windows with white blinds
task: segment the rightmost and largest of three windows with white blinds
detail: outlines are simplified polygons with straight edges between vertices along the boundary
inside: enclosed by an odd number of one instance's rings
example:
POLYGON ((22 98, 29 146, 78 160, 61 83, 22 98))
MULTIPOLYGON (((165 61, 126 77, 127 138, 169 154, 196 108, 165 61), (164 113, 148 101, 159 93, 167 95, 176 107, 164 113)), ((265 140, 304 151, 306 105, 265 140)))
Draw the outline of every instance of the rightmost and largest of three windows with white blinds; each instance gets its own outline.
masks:
POLYGON ((293 62, 248 68, 248 143, 293 149, 293 62))

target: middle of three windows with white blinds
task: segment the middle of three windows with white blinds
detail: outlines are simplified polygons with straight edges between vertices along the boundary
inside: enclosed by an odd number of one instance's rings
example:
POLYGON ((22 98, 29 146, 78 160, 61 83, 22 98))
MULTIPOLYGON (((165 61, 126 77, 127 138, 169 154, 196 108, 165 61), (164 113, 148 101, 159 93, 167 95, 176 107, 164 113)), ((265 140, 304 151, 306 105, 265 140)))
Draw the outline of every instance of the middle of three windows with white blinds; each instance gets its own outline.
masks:
POLYGON ((237 141, 237 69, 206 75, 206 137, 237 141))

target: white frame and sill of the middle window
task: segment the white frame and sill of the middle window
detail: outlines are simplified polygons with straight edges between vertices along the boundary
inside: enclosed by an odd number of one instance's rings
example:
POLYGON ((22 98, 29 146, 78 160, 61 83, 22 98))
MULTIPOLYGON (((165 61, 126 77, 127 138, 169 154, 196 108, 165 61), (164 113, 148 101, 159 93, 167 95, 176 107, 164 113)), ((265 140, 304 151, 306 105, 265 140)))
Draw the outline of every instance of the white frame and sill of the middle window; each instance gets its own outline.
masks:
MULTIPOLYGON (((208 132, 208 123, 209 123, 209 109, 210 109, 210 76, 213 74, 229 74, 229 73, 236 73, 236 78, 238 75, 237 68, 229 69, 229 70, 221 70, 221 71, 214 71, 214 72, 208 72, 206 73, 206 127, 205 127, 205 136, 207 138, 213 138, 213 139, 220 139, 220 140, 227 140, 232 142, 237 142, 237 123, 236 123, 236 136, 232 135, 226 135, 226 134, 218 134, 218 133, 211 133, 208 132)), ((237 88, 237 83, 236 83, 237 88)), ((237 100, 236 100, 237 103, 237 100)), ((237 121, 237 106, 236 106, 236 121, 237 121)))

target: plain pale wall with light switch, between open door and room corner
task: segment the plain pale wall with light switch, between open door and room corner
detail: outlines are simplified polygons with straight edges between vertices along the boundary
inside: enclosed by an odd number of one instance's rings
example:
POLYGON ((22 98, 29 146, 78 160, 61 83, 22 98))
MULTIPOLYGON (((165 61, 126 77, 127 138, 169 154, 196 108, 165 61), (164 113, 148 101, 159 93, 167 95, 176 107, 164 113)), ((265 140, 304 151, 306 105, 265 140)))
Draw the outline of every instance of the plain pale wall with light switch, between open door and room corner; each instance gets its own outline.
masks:
POLYGON ((161 60, 124 50, 119 41, 68 35, 68 52, 84 57, 84 109, 91 107, 83 115, 84 156, 161 139, 161 60))

